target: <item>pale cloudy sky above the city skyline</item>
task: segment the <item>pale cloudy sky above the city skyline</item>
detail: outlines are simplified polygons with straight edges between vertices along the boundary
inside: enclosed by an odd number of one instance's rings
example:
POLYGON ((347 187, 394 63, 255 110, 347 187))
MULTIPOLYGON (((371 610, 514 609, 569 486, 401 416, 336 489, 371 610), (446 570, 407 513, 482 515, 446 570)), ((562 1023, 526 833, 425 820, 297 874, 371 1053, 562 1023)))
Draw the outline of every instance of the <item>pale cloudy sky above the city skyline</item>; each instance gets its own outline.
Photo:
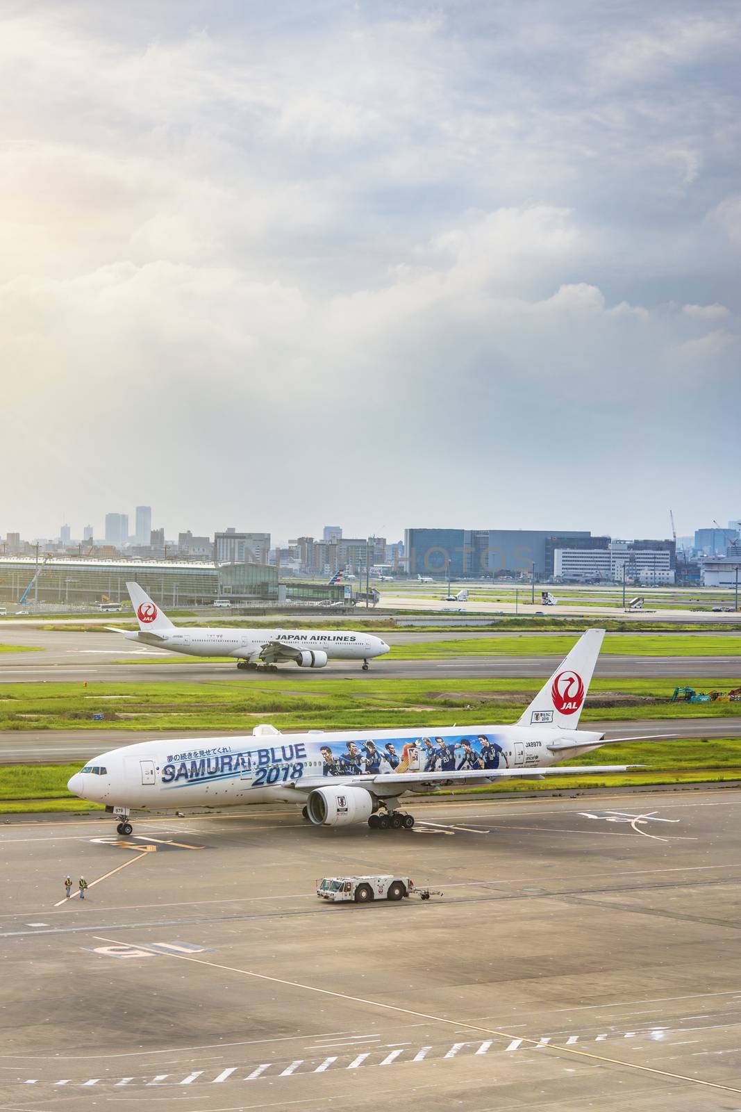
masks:
POLYGON ((4 0, 0 532, 741 515, 735 0, 4 0))

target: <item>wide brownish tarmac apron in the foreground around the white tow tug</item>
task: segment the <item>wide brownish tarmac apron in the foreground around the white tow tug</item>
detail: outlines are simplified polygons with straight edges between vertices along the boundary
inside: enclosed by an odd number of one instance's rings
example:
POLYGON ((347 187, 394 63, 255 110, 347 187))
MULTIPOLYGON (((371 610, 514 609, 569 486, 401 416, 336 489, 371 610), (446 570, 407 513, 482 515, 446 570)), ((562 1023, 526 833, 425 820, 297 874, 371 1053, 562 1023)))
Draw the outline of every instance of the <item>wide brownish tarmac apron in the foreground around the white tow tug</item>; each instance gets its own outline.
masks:
POLYGON ((741 1108, 740 792, 410 810, 0 827, 2 1106, 741 1108), (444 896, 316 898, 379 872, 444 896))

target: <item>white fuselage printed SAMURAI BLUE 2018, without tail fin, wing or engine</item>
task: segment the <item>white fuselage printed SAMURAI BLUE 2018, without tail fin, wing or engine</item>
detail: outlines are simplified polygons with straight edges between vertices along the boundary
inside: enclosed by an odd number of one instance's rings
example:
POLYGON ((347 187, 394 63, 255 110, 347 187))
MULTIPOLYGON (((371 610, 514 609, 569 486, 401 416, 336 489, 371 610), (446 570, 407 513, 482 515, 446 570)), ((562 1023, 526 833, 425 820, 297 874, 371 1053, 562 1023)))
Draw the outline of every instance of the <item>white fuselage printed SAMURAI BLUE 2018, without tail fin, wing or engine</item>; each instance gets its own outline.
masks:
POLYGON ((148 741, 110 749, 72 776, 69 788, 86 800, 137 811, 270 801, 301 804, 308 791, 302 781, 331 786, 336 776, 367 774, 377 777, 369 787, 373 795, 395 798, 408 791, 428 791, 429 785, 423 780, 397 782, 384 791, 384 773, 547 768, 589 752, 603 736, 548 726, 493 725, 437 727, 425 737, 413 729, 280 734, 263 726, 258 731, 264 733, 148 741))

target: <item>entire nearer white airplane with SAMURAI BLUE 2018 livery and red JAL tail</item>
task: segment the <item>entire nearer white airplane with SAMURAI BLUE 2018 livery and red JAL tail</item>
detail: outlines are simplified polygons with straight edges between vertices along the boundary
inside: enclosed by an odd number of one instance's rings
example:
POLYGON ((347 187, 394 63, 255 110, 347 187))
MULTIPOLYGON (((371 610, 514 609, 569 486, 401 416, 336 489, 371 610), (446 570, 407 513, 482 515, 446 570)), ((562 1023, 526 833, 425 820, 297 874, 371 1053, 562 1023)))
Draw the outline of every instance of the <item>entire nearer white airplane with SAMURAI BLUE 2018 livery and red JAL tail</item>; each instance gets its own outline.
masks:
MULTIPOLYGON (((106 805, 131 834, 132 811, 296 803, 317 826, 368 822, 414 825, 395 811, 405 792, 492 784, 509 777, 625 772, 629 765, 554 768, 568 757, 633 737, 578 731, 603 629, 588 629, 512 726, 431 726, 281 735, 148 741, 109 749, 68 783, 73 795, 106 805)), ((647 735, 671 737, 665 735, 647 735)))

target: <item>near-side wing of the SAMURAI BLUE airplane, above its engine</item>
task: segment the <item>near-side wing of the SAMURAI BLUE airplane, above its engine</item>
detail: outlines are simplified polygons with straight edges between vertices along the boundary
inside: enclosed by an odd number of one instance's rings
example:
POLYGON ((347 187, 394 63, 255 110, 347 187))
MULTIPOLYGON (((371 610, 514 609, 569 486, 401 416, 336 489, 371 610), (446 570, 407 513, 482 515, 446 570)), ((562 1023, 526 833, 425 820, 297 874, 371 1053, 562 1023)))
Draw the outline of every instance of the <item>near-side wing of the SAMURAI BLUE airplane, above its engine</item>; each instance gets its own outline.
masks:
POLYGON ((318 787, 366 787, 383 795, 389 787, 462 787, 465 784, 493 784, 498 780, 517 780, 527 776, 542 780, 544 776, 583 776, 587 773, 631 772, 643 765, 585 765, 558 768, 467 768, 461 772, 402 772, 360 773, 349 776, 309 776, 294 781, 293 786, 301 792, 313 792, 318 787), (380 790, 380 791, 377 791, 380 790))

